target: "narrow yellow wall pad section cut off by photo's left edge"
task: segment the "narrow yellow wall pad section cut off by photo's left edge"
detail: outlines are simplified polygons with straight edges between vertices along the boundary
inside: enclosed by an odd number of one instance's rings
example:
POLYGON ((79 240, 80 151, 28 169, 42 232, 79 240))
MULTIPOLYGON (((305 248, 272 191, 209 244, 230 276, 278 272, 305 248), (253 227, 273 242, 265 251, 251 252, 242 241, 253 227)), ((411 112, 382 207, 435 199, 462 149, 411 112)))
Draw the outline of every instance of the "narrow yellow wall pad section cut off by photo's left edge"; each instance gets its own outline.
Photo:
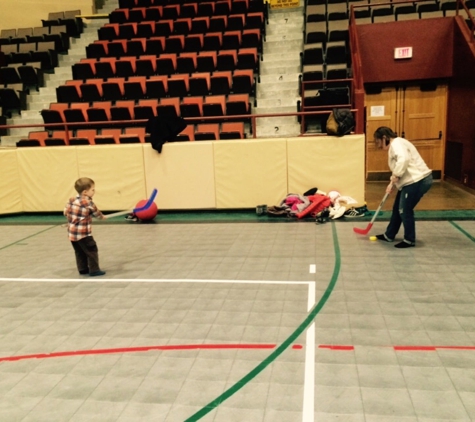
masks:
POLYGON ((0 214, 23 211, 18 162, 15 150, 0 154, 0 214))

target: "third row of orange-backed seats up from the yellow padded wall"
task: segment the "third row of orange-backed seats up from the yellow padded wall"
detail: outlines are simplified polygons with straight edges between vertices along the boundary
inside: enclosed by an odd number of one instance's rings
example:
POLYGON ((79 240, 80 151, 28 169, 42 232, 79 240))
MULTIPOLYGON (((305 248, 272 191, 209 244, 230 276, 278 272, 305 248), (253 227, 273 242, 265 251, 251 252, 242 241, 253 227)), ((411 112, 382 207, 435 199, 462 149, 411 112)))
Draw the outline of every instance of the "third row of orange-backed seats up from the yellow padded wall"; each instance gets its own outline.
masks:
POLYGON ((71 80, 56 88, 60 103, 140 100, 146 98, 196 95, 247 94, 255 97, 255 83, 250 71, 176 74, 170 77, 132 76, 125 78, 71 80))

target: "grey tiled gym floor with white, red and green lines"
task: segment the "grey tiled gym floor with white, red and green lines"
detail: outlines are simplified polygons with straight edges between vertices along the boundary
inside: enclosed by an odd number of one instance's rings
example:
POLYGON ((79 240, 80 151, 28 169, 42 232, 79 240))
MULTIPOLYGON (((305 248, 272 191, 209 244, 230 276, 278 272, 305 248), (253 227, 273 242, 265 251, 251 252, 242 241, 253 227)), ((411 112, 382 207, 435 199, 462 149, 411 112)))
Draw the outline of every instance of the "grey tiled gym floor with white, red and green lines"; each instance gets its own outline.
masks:
MULTIPOLYGON (((443 185, 421 212, 473 201, 443 185)), ((404 250, 356 235, 367 219, 106 221, 97 278, 60 224, 0 219, 0 420, 475 420, 465 217, 417 221, 404 250)))

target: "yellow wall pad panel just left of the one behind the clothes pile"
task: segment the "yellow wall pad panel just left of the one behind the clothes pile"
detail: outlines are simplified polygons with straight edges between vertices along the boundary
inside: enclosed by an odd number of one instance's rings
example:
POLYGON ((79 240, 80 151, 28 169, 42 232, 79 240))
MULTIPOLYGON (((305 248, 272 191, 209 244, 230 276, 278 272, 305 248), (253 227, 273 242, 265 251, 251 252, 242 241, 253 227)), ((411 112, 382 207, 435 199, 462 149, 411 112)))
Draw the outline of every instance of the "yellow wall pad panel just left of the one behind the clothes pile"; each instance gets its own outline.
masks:
POLYGON ((287 194, 285 139, 214 143, 217 208, 274 205, 287 194))

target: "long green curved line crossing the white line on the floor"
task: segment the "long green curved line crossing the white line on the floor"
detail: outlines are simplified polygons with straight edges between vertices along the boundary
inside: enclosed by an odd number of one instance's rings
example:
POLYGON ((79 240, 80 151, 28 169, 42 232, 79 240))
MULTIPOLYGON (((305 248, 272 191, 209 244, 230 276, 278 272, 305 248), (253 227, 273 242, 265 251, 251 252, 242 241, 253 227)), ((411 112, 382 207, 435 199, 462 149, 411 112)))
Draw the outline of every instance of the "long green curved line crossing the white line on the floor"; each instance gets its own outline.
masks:
POLYGON ((257 365, 251 372, 241 378, 236 384, 228 388, 219 397, 215 398, 212 402, 208 403, 205 407, 203 407, 198 412, 186 419, 185 422, 194 422, 201 419, 213 409, 218 407, 226 399, 231 397, 234 393, 238 392, 242 387, 244 387, 254 377, 260 374, 265 368, 267 368, 272 362, 274 362, 300 336, 300 334, 302 334, 310 326, 310 324, 312 324, 313 320, 322 310, 323 306, 332 294, 333 289, 335 288, 336 282, 338 280, 338 275, 340 274, 341 254, 340 246, 338 243, 338 236, 336 233, 336 226, 334 222, 332 222, 332 233, 333 246, 335 250, 335 265, 333 267, 333 274, 330 279, 330 283, 328 284, 328 287, 323 293, 323 296, 310 311, 307 318, 305 318, 305 320, 297 327, 297 329, 280 346, 278 346, 265 360, 263 360, 259 365, 257 365))

